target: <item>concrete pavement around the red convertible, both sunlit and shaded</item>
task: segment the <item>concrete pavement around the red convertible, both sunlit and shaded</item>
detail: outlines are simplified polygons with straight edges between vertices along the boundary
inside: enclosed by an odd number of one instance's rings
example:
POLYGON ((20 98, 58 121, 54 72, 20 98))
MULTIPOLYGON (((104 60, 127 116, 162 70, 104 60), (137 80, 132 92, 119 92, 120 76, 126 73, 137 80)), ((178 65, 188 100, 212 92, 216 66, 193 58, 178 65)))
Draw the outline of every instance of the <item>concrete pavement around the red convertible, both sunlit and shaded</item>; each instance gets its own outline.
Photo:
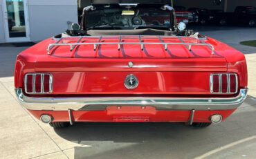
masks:
POLYGON ((228 120, 206 129, 181 123, 77 123, 53 129, 33 118, 13 91, 15 57, 27 47, 0 47, 0 158, 256 158, 255 28, 197 28, 244 51, 249 96, 228 120))

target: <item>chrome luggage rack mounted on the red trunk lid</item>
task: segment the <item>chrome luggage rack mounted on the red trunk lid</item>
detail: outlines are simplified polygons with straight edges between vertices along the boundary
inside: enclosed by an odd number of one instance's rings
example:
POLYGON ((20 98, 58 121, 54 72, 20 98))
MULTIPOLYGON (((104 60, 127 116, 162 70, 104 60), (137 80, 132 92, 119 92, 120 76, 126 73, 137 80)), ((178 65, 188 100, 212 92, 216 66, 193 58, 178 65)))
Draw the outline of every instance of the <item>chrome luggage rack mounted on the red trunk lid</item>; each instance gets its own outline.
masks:
POLYGON ((70 46, 70 51, 74 50, 75 46, 79 46, 79 45, 93 45, 94 46, 94 50, 97 50, 99 45, 118 45, 118 50, 120 50, 120 46, 121 45, 127 45, 127 44, 137 44, 140 45, 141 50, 144 49, 145 45, 163 45, 163 47, 165 48, 165 50, 167 50, 167 46, 168 45, 185 45, 188 50, 192 51, 191 47, 192 46, 208 46, 211 50, 212 50, 212 55, 214 55, 214 46, 212 46, 212 44, 206 44, 204 41, 202 41, 200 38, 195 38, 195 37, 182 37, 182 38, 194 38, 194 39, 199 39, 199 41, 201 41, 201 43, 185 43, 183 41, 183 39, 181 39, 181 37, 179 36, 150 36, 150 35, 120 35, 120 36, 81 36, 81 37, 61 37, 60 39, 57 39, 56 43, 54 44, 49 44, 48 48, 47 48, 47 53, 48 55, 51 55, 51 49, 54 46, 70 46), (124 37, 132 37, 133 39, 135 39, 135 37, 138 37, 138 41, 139 42, 122 42, 122 39, 124 37), (163 37, 176 37, 179 39, 179 42, 164 42, 163 41, 163 37), (98 38, 98 42, 80 42, 82 39, 95 39, 98 38), (101 42, 102 38, 118 38, 119 40, 117 42, 101 42), (152 39, 152 38, 158 38, 160 40, 160 42, 144 42, 144 39, 152 39), (71 40, 71 39, 78 39, 75 43, 63 43, 62 40, 71 40), (143 39, 143 40, 142 40, 143 39), (60 43, 60 41, 62 41, 62 43, 60 43))

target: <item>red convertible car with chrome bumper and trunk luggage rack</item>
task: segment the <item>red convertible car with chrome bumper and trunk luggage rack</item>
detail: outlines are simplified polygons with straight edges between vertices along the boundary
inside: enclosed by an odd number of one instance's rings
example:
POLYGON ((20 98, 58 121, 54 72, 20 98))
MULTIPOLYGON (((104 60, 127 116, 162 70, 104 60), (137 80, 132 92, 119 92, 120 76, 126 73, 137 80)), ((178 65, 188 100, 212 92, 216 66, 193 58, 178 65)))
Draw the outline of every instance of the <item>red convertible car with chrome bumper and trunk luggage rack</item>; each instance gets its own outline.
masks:
MULTIPOLYGON (((157 14, 156 14, 157 15, 157 14)), ((74 122, 226 120, 248 93, 243 53, 185 30, 162 4, 97 4, 81 24, 17 57, 15 93, 52 127, 74 122), (155 25, 140 12, 168 12, 155 25)))

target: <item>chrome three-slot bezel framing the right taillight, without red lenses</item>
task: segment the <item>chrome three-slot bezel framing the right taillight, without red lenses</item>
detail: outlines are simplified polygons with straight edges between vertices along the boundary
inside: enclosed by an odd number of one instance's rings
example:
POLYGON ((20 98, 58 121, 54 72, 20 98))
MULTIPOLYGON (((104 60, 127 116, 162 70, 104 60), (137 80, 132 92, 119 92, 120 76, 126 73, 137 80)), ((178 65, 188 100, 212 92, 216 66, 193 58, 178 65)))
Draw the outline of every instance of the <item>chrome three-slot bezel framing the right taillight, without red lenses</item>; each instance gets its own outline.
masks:
POLYGON ((210 74, 210 93, 212 94, 235 94, 238 92, 238 77, 236 73, 212 73, 210 74), (218 75, 219 76, 219 92, 214 92, 213 91, 213 76, 214 75, 218 75), (223 93, 222 92, 222 75, 226 75, 227 76, 227 84, 228 84, 228 88, 227 88, 227 92, 223 93), (230 91, 230 75, 235 75, 235 82, 236 82, 236 86, 235 86, 235 92, 231 92, 230 91))

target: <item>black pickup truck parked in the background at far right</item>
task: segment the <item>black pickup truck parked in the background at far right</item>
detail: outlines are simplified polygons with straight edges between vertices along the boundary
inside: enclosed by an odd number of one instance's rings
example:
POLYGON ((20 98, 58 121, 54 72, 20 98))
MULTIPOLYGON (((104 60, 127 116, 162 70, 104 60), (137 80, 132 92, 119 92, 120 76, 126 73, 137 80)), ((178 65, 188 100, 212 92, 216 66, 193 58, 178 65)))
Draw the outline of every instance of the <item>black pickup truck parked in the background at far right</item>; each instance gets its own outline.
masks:
POLYGON ((253 6, 238 6, 235 8, 235 12, 224 12, 219 16, 221 17, 219 20, 221 26, 228 24, 256 26, 256 8, 253 6))

